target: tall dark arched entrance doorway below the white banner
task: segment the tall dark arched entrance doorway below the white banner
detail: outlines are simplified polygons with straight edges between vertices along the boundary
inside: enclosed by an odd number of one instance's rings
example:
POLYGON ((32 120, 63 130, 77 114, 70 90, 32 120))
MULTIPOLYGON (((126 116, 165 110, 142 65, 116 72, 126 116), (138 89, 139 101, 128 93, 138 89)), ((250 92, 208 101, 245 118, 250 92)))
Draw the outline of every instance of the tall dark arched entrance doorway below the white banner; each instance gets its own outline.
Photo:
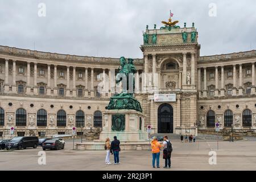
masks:
POLYGON ((174 133, 174 109, 170 104, 158 107, 158 133, 174 133))

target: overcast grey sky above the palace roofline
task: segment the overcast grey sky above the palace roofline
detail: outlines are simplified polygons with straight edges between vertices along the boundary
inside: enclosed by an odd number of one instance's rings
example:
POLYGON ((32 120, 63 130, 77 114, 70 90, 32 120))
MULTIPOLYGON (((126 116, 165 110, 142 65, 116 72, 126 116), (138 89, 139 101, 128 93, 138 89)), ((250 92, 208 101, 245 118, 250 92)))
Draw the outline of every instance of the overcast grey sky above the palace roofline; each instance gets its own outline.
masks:
POLYGON ((0 45, 81 56, 142 58, 142 31, 174 13, 199 31, 201 56, 256 49, 255 0, 0 0, 0 45), (46 16, 38 16, 45 3, 46 16), (209 4, 217 16, 209 16, 209 4))

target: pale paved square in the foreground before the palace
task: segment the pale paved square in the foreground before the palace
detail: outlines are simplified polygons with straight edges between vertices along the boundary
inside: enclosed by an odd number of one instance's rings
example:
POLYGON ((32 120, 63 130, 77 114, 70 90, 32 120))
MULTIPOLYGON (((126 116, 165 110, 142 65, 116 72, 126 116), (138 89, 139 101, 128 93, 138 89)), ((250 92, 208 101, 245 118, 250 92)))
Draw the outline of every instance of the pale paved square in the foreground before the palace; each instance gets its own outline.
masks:
MULTIPOLYGON (((0 151, 0 170, 152 170, 150 151, 121 151, 121 164, 105 164, 105 151, 73 151, 72 140, 64 150, 46 151, 46 165, 38 164, 42 148, 0 151)), ((172 168, 166 170, 256 170, 256 142, 173 142, 172 168), (209 151, 217 152, 217 165, 209 164, 209 151)), ((113 162, 113 156, 111 156, 113 162)), ((163 167, 162 155, 160 165, 163 167)), ((154 170, 164 170, 154 169, 154 170)))

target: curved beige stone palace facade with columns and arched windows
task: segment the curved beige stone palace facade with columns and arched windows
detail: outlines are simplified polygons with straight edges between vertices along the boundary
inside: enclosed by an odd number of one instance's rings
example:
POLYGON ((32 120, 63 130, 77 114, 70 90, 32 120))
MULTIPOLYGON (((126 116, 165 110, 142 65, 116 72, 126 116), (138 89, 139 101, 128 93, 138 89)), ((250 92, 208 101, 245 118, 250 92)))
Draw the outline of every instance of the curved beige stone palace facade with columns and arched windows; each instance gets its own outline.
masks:
MULTIPOLYGON (((194 27, 146 29, 135 97, 154 133, 256 129, 256 51, 200 56, 194 27), (146 38, 146 39, 145 39, 146 38), (172 94, 174 101, 156 101, 172 94)), ((0 46, 0 137, 102 129, 119 59, 0 46), (102 84, 103 83, 103 84, 102 84), (100 86, 99 86, 100 85, 100 86), (103 87, 102 87, 103 86, 103 87), (99 89, 104 88, 104 89, 99 89)))

